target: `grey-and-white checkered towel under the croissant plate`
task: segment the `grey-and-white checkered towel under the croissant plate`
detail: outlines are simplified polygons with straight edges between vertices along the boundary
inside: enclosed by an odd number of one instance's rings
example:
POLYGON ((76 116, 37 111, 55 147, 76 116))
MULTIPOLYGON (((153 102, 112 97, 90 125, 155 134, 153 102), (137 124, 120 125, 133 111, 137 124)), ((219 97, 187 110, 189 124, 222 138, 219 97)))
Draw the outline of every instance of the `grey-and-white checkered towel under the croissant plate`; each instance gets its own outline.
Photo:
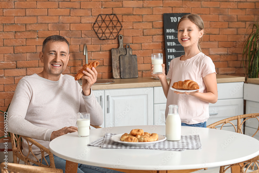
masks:
POLYGON ((101 148, 121 148, 121 149, 153 149, 153 150, 171 150, 171 151, 183 151, 185 149, 201 149, 199 135, 181 136, 180 141, 162 141, 157 142, 151 146, 127 146, 122 143, 114 142, 111 137, 116 134, 105 133, 105 136, 91 142, 90 146, 97 146, 101 148))

